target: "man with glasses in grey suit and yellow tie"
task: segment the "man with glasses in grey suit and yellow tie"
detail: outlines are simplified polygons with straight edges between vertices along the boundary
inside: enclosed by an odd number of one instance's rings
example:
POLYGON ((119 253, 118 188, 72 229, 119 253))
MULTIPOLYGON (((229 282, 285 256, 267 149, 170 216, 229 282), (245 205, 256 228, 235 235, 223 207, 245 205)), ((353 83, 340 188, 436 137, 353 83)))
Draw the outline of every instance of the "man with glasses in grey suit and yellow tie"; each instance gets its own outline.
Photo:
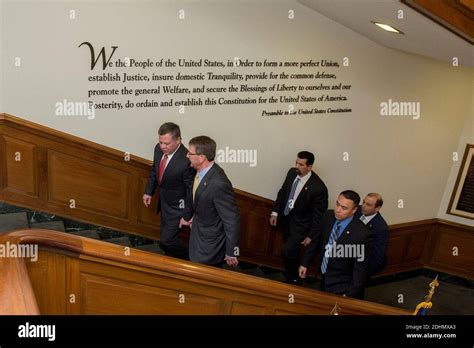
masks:
POLYGON ((193 217, 189 258, 221 267, 239 261, 240 214, 224 170, 214 163, 216 142, 207 136, 190 140, 188 158, 197 173, 193 183, 193 217))

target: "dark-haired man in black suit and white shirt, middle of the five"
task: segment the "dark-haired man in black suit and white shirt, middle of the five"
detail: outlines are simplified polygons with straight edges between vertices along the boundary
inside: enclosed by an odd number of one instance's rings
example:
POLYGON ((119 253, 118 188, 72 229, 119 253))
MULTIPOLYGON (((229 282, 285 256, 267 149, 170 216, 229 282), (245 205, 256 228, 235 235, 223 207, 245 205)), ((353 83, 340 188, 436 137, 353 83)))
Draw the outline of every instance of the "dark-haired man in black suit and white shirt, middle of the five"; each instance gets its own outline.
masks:
POLYGON ((296 166, 291 168, 278 191, 270 216, 270 225, 277 221, 283 229, 283 260, 286 281, 300 284, 298 266, 301 246, 307 246, 321 233, 321 217, 328 208, 328 190, 313 172, 314 155, 301 151, 296 166))

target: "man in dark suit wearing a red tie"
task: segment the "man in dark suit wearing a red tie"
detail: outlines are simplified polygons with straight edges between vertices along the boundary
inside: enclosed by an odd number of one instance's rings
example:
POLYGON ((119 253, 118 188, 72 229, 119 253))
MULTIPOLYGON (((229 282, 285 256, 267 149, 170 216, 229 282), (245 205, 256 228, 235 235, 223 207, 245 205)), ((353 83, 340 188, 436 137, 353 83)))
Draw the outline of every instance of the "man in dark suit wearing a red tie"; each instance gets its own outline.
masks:
POLYGON ((160 247, 165 255, 188 259, 188 247, 181 242, 179 232, 180 222, 192 216, 192 185, 196 171, 186 157, 188 149, 181 143, 181 131, 177 124, 164 123, 158 135, 159 143, 155 146, 143 203, 148 207, 158 188, 160 247))

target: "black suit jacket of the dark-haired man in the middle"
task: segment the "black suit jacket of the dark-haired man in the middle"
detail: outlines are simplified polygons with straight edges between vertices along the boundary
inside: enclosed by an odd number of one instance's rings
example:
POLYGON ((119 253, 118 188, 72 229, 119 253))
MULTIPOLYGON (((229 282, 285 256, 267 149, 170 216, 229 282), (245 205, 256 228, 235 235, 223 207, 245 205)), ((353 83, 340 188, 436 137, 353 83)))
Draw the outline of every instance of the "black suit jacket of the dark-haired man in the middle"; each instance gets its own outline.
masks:
MULTIPOLYGON (((278 191, 273 211, 278 213, 279 219, 283 217, 291 187, 296 176, 296 168, 291 168, 285 182, 278 191)), ((302 188, 294 202, 293 209, 288 214, 288 228, 290 234, 316 238, 321 233, 321 217, 328 208, 328 190, 324 182, 313 171, 311 177, 302 188)))

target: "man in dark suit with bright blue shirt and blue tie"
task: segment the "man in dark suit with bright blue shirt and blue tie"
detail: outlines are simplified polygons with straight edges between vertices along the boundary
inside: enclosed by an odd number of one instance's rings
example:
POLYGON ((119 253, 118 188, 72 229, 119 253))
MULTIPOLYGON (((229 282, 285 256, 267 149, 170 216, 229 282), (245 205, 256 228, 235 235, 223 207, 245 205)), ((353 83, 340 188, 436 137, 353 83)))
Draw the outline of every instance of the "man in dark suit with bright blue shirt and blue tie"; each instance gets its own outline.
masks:
POLYGON ((321 290, 355 298, 364 296, 373 238, 372 231, 354 218, 359 202, 360 197, 354 191, 339 194, 335 210, 324 214, 322 233, 312 240, 299 268, 300 277, 305 278, 312 260, 323 251, 321 290))

